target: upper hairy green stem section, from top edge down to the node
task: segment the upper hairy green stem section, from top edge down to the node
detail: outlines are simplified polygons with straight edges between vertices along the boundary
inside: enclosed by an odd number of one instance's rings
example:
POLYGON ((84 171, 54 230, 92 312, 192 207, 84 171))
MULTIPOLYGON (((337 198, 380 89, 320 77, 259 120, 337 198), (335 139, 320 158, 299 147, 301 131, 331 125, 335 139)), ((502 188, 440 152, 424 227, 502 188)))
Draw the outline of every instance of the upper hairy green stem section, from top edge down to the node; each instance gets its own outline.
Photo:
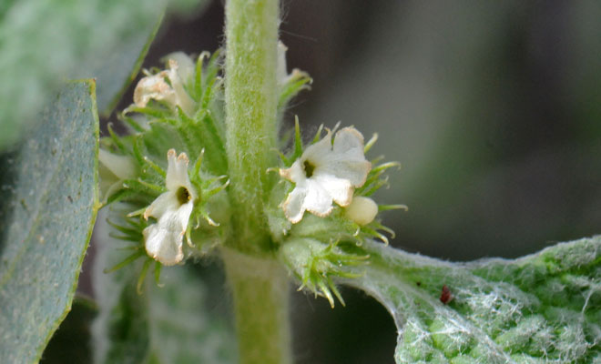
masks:
POLYGON ((278 0, 226 4, 226 149, 237 247, 269 248, 263 201, 277 147, 278 0))

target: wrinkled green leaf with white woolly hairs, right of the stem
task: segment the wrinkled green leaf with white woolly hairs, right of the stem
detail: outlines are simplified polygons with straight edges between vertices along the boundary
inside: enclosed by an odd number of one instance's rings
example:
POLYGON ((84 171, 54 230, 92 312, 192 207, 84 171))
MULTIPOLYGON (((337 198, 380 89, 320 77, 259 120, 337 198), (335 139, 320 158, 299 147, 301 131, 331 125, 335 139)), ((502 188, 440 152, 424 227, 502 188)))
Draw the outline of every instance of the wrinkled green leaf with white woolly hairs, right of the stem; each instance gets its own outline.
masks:
POLYGON ((472 263, 362 249, 370 264, 345 283, 391 312, 397 363, 601 362, 601 237, 472 263))

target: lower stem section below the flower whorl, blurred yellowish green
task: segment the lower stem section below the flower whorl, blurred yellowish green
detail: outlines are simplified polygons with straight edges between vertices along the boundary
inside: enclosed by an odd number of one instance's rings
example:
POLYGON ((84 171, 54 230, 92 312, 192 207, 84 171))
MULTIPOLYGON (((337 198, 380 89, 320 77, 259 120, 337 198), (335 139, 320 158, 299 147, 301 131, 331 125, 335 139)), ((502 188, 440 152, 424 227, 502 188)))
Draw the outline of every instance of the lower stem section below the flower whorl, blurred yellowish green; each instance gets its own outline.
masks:
POLYGON ((221 249, 234 298, 241 364, 290 364, 288 275, 273 259, 221 249))

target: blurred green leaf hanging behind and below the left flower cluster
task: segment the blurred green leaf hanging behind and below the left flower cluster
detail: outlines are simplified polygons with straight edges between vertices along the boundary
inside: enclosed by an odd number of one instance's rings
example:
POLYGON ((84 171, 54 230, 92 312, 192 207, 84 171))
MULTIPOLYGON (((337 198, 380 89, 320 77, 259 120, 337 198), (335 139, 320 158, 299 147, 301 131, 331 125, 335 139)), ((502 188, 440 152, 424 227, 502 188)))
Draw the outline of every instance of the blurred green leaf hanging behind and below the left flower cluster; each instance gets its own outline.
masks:
POLYGON ((107 237, 102 216, 97 231, 100 246, 94 287, 101 295, 100 313, 92 330, 95 363, 236 361, 233 329, 225 312, 219 312, 219 303, 212 302, 209 295, 209 287, 222 288, 223 282, 216 282, 210 271, 200 272, 199 267, 188 264, 163 267, 160 282, 164 286, 158 287, 150 268, 143 292, 138 294, 136 285, 143 259, 104 273, 105 268, 115 266, 129 254, 118 250, 128 243, 107 237))

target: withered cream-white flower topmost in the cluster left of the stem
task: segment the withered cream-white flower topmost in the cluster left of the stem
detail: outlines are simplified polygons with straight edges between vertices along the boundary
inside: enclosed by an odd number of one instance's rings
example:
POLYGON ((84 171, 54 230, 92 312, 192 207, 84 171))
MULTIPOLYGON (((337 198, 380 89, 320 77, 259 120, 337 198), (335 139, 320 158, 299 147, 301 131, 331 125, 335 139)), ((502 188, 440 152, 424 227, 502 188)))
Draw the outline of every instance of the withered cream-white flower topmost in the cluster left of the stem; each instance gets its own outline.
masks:
POLYGON ((163 101, 171 107, 179 106, 187 115, 192 115, 194 100, 184 88, 186 80, 193 74, 192 69, 193 63, 188 56, 181 53, 169 55, 167 70, 139 80, 134 89, 134 103, 138 107, 145 107, 151 99, 163 101))

